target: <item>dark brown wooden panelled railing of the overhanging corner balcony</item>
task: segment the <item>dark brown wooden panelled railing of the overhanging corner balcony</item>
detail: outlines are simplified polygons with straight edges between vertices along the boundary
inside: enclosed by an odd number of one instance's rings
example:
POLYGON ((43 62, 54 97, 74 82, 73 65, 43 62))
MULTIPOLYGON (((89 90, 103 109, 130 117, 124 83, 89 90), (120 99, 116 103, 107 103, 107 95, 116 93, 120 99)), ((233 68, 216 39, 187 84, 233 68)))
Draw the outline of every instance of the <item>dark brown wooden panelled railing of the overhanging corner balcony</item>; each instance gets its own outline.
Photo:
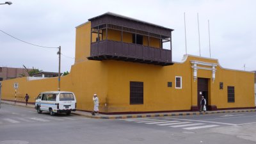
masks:
POLYGON ((93 42, 89 60, 123 60, 154 65, 172 65, 172 51, 111 40, 93 42))

